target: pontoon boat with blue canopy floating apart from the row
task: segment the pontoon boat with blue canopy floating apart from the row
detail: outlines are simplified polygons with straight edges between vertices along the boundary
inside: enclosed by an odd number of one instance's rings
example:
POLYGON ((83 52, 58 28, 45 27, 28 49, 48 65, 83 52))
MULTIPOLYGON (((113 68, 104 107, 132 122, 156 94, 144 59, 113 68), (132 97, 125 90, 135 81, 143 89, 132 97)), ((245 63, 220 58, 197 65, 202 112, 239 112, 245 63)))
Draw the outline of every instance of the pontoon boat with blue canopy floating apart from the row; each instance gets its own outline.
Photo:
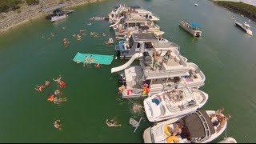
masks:
POLYGON ((202 37, 202 31, 200 30, 200 25, 195 22, 180 22, 179 26, 181 26, 184 30, 192 34, 196 38, 202 37))

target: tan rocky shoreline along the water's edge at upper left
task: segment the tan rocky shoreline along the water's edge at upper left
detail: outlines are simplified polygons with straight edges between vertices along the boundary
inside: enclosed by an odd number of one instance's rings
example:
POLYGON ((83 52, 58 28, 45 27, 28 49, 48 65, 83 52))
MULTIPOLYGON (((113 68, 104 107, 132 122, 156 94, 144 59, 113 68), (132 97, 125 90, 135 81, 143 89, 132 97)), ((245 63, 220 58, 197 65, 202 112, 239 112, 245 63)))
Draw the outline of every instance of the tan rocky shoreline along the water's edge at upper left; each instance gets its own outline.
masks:
MULTIPOLYGON (((90 4, 90 3, 103 2, 103 1, 106 1, 106 0, 80 0, 78 2, 71 2, 70 1, 70 2, 67 2, 67 3, 70 3, 71 5, 66 6, 63 9, 74 8, 74 7, 77 7, 77 6, 85 6, 85 5, 90 4)), ((40 4, 38 4, 38 5, 40 5, 40 4)), ((14 28, 16 26, 21 26, 22 24, 26 24, 26 22, 31 22, 34 19, 42 18, 43 16, 47 15, 47 13, 42 12, 41 9, 37 9, 37 7, 38 6, 35 6, 36 10, 33 13, 29 14, 28 16, 24 15, 25 13, 23 13, 23 14, 14 14, 14 16, 12 16, 12 18, 10 18, 10 20, 8 20, 9 17, 7 16, 5 19, 3 19, 3 21, 7 19, 6 22, 0 22, 0 34, 4 34, 8 30, 11 30, 12 28, 14 28), (17 18, 21 18, 22 20, 18 19, 18 22, 15 22, 17 20, 17 18)))

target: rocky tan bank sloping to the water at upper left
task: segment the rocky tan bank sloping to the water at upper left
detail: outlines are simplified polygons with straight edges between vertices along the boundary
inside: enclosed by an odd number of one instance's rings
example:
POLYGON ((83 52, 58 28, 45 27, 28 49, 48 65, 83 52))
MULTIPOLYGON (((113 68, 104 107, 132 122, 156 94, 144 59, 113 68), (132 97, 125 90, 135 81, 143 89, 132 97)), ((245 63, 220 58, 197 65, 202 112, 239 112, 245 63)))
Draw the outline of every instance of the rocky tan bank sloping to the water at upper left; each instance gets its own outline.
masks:
MULTIPOLYGON (((74 6, 82 6, 94 2, 102 2, 105 0, 69 0, 66 1, 70 4, 66 8, 74 6)), ((47 3, 47 6, 58 5, 58 2, 47 3)), ((0 33, 4 33, 7 30, 10 30, 14 26, 19 26, 22 23, 30 22, 35 18, 41 18, 46 16, 46 13, 42 12, 42 3, 40 2, 37 6, 22 6, 21 13, 15 11, 10 11, 8 13, 0 14, 0 33)))

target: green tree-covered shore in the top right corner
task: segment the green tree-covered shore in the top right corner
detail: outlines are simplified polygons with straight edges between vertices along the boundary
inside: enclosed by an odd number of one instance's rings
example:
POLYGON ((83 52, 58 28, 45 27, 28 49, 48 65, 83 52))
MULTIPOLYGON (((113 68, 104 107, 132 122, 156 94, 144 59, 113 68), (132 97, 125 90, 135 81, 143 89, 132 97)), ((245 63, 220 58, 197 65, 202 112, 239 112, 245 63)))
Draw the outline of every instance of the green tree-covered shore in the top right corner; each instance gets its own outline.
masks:
POLYGON ((226 7, 236 13, 243 14, 247 18, 256 19, 256 6, 249 5, 243 2, 226 2, 226 1, 214 1, 218 6, 226 7))

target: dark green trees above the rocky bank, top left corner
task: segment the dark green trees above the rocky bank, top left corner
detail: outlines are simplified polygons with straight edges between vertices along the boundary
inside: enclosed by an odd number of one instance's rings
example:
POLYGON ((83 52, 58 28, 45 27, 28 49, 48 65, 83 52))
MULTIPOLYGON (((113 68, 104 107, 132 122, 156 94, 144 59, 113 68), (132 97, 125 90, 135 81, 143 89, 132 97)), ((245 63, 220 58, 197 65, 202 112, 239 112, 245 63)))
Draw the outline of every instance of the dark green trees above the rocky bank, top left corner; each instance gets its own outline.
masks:
POLYGON ((0 13, 10 10, 18 10, 22 3, 27 5, 38 5, 39 0, 0 0, 0 13))

